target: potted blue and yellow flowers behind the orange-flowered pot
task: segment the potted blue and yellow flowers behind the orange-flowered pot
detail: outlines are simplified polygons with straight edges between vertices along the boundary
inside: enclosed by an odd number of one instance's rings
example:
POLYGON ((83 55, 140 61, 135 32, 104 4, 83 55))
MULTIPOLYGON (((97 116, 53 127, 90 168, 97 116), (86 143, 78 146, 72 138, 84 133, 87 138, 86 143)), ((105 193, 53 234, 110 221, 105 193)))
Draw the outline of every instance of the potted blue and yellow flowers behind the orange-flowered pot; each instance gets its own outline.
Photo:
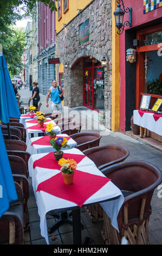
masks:
POLYGON ((69 145, 67 145, 67 143, 68 141, 64 137, 59 137, 59 138, 50 140, 50 144, 56 150, 56 152, 54 152, 54 156, 56 160, 60 160, 62 158, 62 155, 63 155, 63 151, 61 151, 62 148, 66 148, 66 147, 69 148, 69 145))

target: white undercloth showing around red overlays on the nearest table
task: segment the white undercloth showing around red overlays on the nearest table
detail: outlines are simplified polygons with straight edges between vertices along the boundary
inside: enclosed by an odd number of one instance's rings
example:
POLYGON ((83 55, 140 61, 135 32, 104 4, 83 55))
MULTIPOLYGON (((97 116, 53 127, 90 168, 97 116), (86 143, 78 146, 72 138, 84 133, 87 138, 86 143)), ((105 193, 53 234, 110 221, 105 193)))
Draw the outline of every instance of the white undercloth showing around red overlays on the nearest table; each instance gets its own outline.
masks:
MULTIPOLYGON (((64 150, 64 153, 83 155, 83 153, 79 149, 64 150)), ((36 167, 33 169, 34 161, 42 158, 45 155, 47 155, 47 153, 30 156, 29 175, 32 177, 33 189, 36 197, 36 203, 38 206, 38 214, 40 215, 41 235, 45 237, 46 242, 49 244, 47 222, 46 222, 47 212, 50 210, 75 207, 77 205, 73 202, 70 202, 68 200, 65 200, 59 197, 55 197, 43 191, 36 192, 38 184, 40 184, 42 181, 45 181, 60 172, 60 170, 48 169, 48 168, 45 169, 40 167, 36 167)), ((47 163, 47 166, 48 166, 48 163, 47 163)), ((88 157, 85 157, 81 162, 77 164, 77 170, 81 170, 82 172, 87 172, 94 175, 104 176, 100 172, 100 170, 95 166, 94 162, 88 159, 88 157)), ((88 184, 87 184, 87 189, 88 189, 88 184)), ((102 188, 100 188, 99 191, 97 191, 91 197, 89 197, 83 205, 90 204, 90 203, 98 203, 98 202, 101 202, 102 200, 107 200, 107 199, 111 199, 118 196, 119 196, 118 199, 111 200, 109 202, 104 202, 101 204, 102 208, 107 212, 108 216, 111 218, 113 227, 116 228, 116 230, 118 230, 117 217, 118 217, 118 212, 121 208, 121 205, 124 202, 124 196, 122 195, 122 192, 119 190, 119 188, 116 187, 112 181, 107 182, 107 184, 104 185, 102 188)))

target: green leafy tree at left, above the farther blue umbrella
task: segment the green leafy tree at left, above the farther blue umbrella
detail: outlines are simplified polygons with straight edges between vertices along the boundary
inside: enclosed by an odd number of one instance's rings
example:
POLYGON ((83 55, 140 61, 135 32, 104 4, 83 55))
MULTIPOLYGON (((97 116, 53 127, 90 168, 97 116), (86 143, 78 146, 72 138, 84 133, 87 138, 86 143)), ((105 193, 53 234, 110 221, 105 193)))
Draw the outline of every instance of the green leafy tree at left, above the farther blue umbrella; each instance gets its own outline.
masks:
POLYGON ((25 47, 25 32, 22 29, 5 27, 5 32, 0 33, 0 42, 10 75, 19 75, 22 70, 21 57, 25 47))

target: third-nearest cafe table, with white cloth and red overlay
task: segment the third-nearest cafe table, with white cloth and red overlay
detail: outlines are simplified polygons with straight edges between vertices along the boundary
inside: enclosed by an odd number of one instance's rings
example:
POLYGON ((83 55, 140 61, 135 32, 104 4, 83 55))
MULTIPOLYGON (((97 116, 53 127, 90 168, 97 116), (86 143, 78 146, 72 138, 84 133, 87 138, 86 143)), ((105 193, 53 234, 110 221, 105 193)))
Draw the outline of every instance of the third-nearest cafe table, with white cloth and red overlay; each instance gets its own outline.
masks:
MULTIPOLYGON (((31 137, 34 137, 37 136, 38 133, 44 133, 44 131, 46 130, 46 126, 51 123, 51 124, 55 124, 54 120, 51 120, 51 118, 47 118, 47 122, 44 122, 44 130, 38 126, 38 123, 33 123, 34 121, 36 121, 35 119, 29 119, 29 120, 26 120, 25 121, 25 129, 27 131, 27 139, 26 139, 26 144, 28 145, 29 143, 29 139, 30 139, 30 136, 31 137), (31 121, 31 123, 29 123, 31 121), (35 129, 34 126, 38 126, 37 129, 35 129)), ((56 124, 55 124, 56 125, 56 124)), ((61 133, 61 129, 58 125, 56 125, 53 130, 56 132, 56 134, 60 134, 61 133)))

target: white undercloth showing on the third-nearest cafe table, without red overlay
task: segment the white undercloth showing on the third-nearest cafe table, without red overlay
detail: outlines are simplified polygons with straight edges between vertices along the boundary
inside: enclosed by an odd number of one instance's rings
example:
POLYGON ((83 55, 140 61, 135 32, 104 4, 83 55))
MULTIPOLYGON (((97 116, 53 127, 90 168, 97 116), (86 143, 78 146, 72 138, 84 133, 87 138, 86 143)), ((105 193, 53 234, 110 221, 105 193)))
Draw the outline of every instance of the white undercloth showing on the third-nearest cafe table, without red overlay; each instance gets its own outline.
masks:
MULTIPOLYGON (((32 119, 33 120, 33 119, 32 119)), ((29 120, 28 120, 29 121, 29 120)), ((54 120, 51 120, 50 118, 47 118, 47 122, 44 122, 44 124, 49 124, 49 123, 52 123, 52 124, 55 124, 54 120)), ((33 130, 32 128, 31 129, 27 129, 28 127, 31 127, 31 126, 34 126, 36 124, 33 124, 33 123, 25 123, 24 127, 27 131, 27 139, 26 139, 26 144, 28 145, 29 143, 29 139, 30 139, 30 136, 31 136, 31 133, 34 133, 34 136, 37 137, 37 134, 38 133, 43 133, 42 130, 33 130)), ((58 125, 56 125, 53 130, 56 132, 56 134, 60 134, 61 133, 61 129, 58 125)))

